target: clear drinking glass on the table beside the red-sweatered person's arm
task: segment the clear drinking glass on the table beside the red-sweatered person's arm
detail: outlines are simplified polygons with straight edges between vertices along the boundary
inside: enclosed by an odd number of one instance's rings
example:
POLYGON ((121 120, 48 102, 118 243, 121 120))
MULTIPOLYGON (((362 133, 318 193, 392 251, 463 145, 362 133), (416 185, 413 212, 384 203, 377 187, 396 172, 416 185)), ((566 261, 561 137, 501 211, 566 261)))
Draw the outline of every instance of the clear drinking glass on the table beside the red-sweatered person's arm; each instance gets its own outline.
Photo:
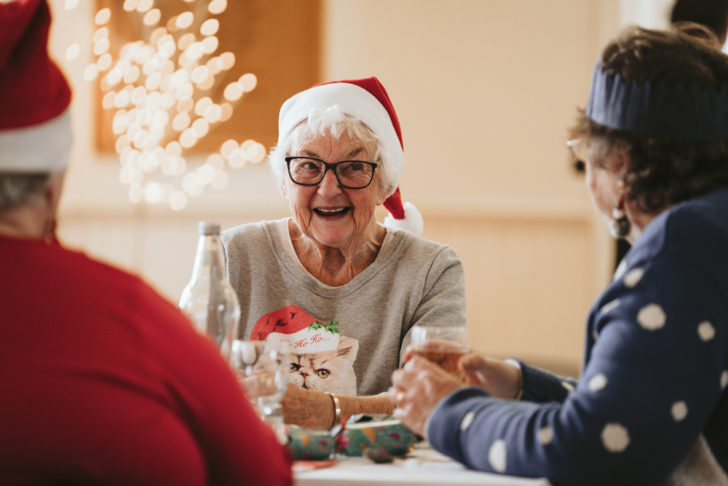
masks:
POLYGON ((253 408, 285 444, 281 399, 288 387, 288 352, 281 344, 266 341, 233 341, 230 354, 238 380, 253 408))

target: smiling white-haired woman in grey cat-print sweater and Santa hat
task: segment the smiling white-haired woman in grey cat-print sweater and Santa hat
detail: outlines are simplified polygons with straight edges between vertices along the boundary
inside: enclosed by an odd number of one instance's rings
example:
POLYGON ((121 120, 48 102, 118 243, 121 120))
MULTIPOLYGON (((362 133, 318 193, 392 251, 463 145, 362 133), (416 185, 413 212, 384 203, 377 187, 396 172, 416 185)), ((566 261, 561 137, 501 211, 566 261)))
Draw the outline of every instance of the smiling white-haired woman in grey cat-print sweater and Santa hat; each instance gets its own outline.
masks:
POLYGON ((314 86, 281 107, 269 157, 291 217, 223 232, 244 339, 290 350, 286 422, 391 413, 384 395, 415 324, 465 325, 463 267, 402 204, 397 115, 376 78, 314 86), (384 205, 391 216, 377 222, 384 205))

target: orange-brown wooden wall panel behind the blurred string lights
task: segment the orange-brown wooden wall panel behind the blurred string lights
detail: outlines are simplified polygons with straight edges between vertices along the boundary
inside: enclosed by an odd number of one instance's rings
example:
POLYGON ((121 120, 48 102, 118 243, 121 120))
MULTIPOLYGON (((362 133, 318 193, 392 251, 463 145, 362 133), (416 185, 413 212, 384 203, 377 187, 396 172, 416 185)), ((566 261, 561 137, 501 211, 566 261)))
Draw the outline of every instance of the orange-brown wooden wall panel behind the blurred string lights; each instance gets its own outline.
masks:
MULTIPOLYGON (((163 12, 162 20, 151 27, 144 25, 142 14, 124 11, 123 4, 121 0, 96 0, 97 9, 111 10, 108 27, 112 53, 131 40, 148 40, 155 28, 185 10, 195 14, 199 19, 195 25, 199 26, 206 18, 208 2, 190 4, 181 0, 156 0, 154 6, 163 12)), ((223 101, 225 86, 249 72, 257 76, 258 85, 235 105, 232 118, 214 126, 191 152, 218 151, 220 145, 231 138, 238 142, 250 138, 270 147, 277 139, 281 103, 291 94, 320 80, 320 0, 234 0, 228 1, 227 5, 223 15, 207 16, 220 22, 217 33, 220 43, 214 55, 232 52, 236 63, 214 88, 202 92, 200 97, 210 96, 223 101)), ((196 33, 200 38, 199 30, 196 33)), ((113 112, 101 108, 104 93, 99 83, 96 89, 96 148, 101 152, 112 152, 115 142, 111 129, 113 112)))

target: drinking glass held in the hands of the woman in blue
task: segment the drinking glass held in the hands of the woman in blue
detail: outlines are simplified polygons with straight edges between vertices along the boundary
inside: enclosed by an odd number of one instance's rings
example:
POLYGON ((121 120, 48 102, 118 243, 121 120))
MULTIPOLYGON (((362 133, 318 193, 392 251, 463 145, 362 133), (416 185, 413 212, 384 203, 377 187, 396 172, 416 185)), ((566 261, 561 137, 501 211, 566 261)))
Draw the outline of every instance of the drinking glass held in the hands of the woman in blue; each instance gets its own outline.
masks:
POLYGON ((410 346, 413 356, 459 375, 458 360, 468 352, 468 330, 465 326, 412 326, 410 346))

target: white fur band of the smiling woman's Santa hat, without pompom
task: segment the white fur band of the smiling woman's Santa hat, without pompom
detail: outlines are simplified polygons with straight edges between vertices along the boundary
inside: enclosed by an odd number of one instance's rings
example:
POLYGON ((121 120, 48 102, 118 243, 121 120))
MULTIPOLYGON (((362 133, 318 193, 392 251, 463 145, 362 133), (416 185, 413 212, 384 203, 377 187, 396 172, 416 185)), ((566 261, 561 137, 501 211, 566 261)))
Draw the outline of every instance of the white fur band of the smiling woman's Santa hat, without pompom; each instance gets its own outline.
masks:
POLYGON ((311 110, 334 105, 360 120, 377 137, 394 191, 404 168, 401 142, 384 106, 369 91, 355 84, 340 82, 314 86, 286 100, 278 117, 278 146, 283 146, 293 129, 308 118, 311 110))

